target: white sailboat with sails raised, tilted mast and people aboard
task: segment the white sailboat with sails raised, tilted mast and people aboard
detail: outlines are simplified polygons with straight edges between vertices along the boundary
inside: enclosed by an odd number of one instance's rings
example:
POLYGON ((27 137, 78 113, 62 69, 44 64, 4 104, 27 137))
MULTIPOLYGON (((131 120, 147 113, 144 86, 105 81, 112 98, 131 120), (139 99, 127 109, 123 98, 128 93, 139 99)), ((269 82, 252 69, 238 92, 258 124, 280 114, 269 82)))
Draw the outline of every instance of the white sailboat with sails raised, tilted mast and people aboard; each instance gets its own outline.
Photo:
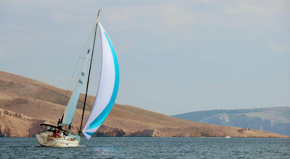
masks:
POLYGON ((66 110, 64 111, 63 117, 61 119, 62 123, 58 126, 49 125, 46 123, 41 123, 39 133, 36 134, 37 142, 46 147, 77 147, 81 140, 82 134, 89 139, 101 126, 104 122, 110 110, 113 107, 115 99, 117 97, 117 92, 119 88, 119 65, 117 56, 115 53, 115 49, 112 45, 110 38, 108 37, 106 31, 99 23, 99 14, 97 16, 97 21, 93 27, 93 31, 95 31, 95 36, 91 35, 88 51, 84 55, 84 61, 81 64, 81 69, 78 73, 79 79, 75 82, 75 87, 73 89, 73 93, 68 101, 68 105, 66 106, 66 110), (86 105, 86 98, 88 92, 88 85, 89 85, 89 78, 90 78, 90 71, 93 61, 93 53, 94 53, 94 46, 95 46, 95 37, 97 33, 97 26, 99 25, 99 30, 101 34, 101 42, 102 42, 102 69, 99 81, 99 87, 97 90, 97 95, 95 98, 94 105, 90 112, 90 115, 86 121, 84 127, 82 127, 83 118, 84 118, 84 110, 86 105), (87 69, 87 62, 90 56, 90 48, 92 47, 91 53, 91 60, 90 60, 90 68, 88 72, 88 80, 87 80, 87 87, 86 87, 86 94, 84 99, 84 107, 82 112, 81 118, 81 125, 79 132, 77 134, 70 134, 70 128, 73 121, 73 116, 75 113, 75 109, 77 107, 77 101, 79 99, 79 94, 81 91, 81 87, 83 85, 83 81, 86 77, 86 69, 87 69), (50 128, 54 128, 59 132, 62 132, 61 136, 58 136, 52 130, 43 130, 42 126, 49 126, 50 128), (63 128, 62 128, 63 127, 63 128), (82 129, 83 128, 83 129, 82 129))

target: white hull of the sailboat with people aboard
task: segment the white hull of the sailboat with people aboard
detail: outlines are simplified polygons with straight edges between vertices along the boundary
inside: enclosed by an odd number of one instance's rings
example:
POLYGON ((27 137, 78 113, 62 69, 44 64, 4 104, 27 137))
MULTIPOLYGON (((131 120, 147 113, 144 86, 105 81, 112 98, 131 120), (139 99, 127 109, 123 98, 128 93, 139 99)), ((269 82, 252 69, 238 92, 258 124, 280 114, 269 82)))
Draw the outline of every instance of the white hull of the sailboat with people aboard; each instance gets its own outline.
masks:
POLYGON ((65 138, 54 138, 49 132, 36 135, 36 140, 41 146, 45 147, 77 147, 81 141, 79 135, 69 135, 65 138))

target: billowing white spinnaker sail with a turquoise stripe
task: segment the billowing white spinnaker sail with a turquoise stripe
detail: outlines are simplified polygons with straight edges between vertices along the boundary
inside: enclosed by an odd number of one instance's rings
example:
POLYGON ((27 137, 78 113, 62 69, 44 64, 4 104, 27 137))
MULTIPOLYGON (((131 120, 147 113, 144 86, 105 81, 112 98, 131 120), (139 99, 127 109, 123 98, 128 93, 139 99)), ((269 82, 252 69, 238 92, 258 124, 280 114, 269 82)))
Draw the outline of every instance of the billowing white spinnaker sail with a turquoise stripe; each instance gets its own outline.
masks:
POLYGON ((119 64, 115 49, 106 31, 99 23, 102 41, 102 69, 94 106, 82 130, 89 139, 110 113, 119 88, 119 64))

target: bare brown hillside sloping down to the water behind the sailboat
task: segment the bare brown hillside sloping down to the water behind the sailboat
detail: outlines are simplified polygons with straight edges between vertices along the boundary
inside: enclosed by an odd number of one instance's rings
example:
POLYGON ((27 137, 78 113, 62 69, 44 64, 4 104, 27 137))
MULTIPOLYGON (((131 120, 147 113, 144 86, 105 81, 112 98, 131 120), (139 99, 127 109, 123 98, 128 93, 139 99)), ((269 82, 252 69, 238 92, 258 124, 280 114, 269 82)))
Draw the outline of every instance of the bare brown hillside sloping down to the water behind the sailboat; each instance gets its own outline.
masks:
MULTIPOLYGON (((0 71, 0 137, 35 136, 40 123, 55 124, 64 113, 70 94, 40 81, 0 71)), ((94 99, 88 96, 84 121, 94 99)), ((71 132, 79 129, 83 102, 81 94, 71 132)), ((262 131, 246 133, 238 127, 177 119, 116 103, 95 136, 288 137, 262 131)))

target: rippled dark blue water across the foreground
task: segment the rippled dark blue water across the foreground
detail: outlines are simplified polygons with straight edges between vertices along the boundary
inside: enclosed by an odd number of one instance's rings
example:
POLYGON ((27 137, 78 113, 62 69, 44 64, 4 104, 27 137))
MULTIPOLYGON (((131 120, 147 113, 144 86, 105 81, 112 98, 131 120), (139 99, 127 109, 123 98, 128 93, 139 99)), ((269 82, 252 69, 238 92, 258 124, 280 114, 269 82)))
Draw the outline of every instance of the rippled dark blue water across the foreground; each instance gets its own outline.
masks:
POLYGON ((82 138, 80 147, 41 147, 0 138, 0 158, 290 158, 290 138, 82 138))

